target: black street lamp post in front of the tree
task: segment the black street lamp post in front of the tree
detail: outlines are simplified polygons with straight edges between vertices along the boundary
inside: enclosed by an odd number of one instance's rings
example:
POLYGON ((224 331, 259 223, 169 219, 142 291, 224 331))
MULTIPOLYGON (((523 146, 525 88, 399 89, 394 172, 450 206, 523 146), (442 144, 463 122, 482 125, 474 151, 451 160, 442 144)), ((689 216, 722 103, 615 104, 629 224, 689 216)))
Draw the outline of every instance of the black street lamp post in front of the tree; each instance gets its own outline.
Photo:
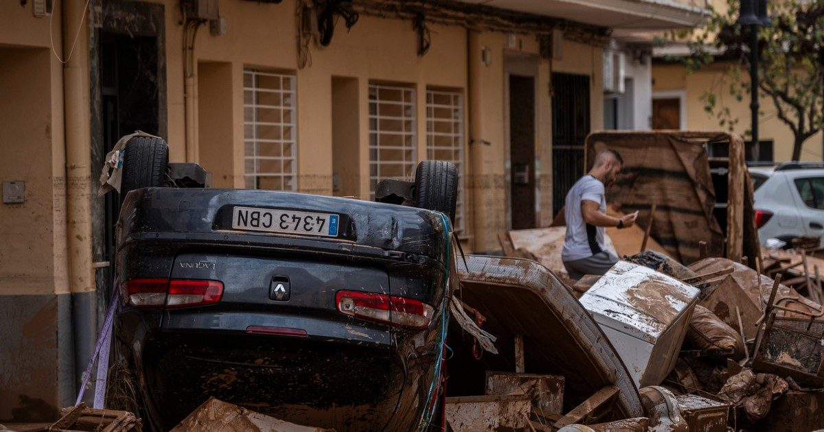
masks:
POLYGON ((758 27, 772 25, 767 15, 767 0, 741 0, 737 24, 750 27, 750 110, 752 159, 758 160, 758 27))

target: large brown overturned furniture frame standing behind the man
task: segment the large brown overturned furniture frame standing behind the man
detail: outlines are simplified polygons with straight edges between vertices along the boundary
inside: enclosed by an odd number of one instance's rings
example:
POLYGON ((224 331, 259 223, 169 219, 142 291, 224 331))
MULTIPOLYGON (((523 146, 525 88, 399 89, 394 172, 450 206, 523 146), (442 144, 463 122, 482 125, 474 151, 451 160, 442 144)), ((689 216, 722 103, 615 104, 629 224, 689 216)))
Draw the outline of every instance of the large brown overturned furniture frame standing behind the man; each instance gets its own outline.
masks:
POLYGON ((760 254, 752 209, 752 183, 744 144, 724 132, 592 132, 585 147, 587 167, 598 151, 619 151, 624 167, 606 188, 606 201, 624 213, 639 211, 667 253, 683 264, 702 258, 699 240, 711 256, 742 257, 754 263, 760 254), (709 158, 707 146, 728 150, 709 158), (725 245, 726 244, 726 245, 725 245))

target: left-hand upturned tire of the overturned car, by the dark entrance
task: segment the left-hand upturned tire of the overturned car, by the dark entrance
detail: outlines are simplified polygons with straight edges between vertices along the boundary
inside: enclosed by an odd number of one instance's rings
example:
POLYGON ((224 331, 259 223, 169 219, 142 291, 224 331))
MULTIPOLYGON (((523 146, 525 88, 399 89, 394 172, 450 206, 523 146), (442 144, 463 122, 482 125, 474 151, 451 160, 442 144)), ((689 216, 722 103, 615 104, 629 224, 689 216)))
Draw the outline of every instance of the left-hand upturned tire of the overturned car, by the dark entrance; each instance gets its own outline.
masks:
POLYGON ((126 144, 123 159, 121 201, 135 189, 163 185, 169 165, 169 146, 162 138, 133 137, 126 144))

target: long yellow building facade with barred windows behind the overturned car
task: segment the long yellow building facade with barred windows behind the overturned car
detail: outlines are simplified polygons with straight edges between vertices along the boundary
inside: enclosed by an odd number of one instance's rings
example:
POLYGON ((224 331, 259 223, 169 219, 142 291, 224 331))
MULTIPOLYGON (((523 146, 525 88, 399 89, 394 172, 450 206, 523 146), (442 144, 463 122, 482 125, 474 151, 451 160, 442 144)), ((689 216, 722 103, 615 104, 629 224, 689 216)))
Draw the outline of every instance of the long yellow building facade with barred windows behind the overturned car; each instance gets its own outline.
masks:
POLYGON ((493 251, 499 233, 549 225, 583 173, 583 138, 604 127, 608 23, 704 13, 363 0, 333 12, 332 32, 301 0, 198 4, 0 5, 0 180, 25 188, 0 205, 0 421, 74 402, 114 284, 118 200, 96 178, 118 137, 165 137, 213 187, 362 199, 451 160, 457 234, 493 251))

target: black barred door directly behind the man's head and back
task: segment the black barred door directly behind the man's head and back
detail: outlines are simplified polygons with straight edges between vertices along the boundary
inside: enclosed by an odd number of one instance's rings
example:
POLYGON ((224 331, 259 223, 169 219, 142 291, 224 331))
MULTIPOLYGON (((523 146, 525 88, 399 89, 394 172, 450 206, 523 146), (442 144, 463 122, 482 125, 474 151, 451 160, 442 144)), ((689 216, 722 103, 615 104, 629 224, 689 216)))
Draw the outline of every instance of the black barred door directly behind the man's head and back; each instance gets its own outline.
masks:
POLYGON ((552 212, 583 175, 583 142, 589 131, 589 77, 552 74, 552 212))

